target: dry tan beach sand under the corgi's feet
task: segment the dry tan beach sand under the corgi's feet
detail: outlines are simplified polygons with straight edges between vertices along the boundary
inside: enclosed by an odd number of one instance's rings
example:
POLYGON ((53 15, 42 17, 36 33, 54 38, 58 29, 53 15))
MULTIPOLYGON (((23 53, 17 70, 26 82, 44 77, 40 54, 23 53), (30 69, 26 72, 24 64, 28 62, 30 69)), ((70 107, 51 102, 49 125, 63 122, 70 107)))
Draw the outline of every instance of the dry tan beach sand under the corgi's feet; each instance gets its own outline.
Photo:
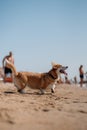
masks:
POLYGON ((0 130, 87 130, 87 89, 58 85, 54 94, 0 83, 0 130))

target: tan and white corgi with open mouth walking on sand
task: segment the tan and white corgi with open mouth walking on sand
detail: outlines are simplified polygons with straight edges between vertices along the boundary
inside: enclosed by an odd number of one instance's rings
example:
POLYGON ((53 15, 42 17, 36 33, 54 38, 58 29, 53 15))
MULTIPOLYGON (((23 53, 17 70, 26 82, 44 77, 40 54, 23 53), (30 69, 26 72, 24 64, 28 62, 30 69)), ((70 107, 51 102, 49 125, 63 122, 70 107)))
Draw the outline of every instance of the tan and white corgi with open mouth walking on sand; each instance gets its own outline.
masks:
MULTIPOLYGON (((34 73, 34 72, 17 72, 15 66, 7 61, 8 67, 11 68, 14 77, 14 85, 17 87, 18 92, 29 86, 32 89, 39 89, 41 93, 50 86, 51 92, 54 92, 55 82, 60 73, 63 73, 63 67, 59 64, 52 63, 52 69, 47 73, 34 73)), ((67 67, 66 67, 67 68, 67 67)))

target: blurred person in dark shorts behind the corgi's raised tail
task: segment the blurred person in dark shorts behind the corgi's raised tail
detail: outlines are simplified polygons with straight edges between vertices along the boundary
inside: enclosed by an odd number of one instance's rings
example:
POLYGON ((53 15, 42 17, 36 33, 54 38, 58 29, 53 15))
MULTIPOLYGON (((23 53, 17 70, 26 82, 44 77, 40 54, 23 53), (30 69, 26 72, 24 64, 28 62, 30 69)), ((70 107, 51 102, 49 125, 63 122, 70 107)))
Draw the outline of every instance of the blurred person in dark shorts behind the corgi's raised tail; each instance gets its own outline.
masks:
POLYGON ((2 66, 4 69, 4 80, 7 76, 7 74, 10 74, 10 77, 12 78, 12 71, 10 68, 7 67, 7 62, 6 60, 10 61, 12 64, 14 64, 14 58, 12 52, 9 52, 9 55, 6 55, 3 60, 2 60, 2 66))

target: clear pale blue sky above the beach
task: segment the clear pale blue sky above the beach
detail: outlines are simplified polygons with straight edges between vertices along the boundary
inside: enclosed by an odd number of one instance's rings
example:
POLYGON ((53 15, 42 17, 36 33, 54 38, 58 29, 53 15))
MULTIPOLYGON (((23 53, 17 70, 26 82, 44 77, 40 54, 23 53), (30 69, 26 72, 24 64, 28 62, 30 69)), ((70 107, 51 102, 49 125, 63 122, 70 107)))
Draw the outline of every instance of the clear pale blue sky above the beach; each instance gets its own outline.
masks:
POLYGON ((18 71, 68 65, 69 78, 87 71, 86 0, 0 0, 0 66, 12 51, 18 71))

